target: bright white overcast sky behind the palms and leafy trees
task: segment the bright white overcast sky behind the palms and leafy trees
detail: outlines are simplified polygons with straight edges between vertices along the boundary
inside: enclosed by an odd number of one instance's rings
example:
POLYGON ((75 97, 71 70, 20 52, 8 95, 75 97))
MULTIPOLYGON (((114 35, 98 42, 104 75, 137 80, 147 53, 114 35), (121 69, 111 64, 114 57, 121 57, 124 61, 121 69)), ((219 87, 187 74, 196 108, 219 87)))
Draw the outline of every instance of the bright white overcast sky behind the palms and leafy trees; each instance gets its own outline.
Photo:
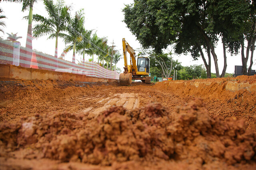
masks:
MULTIPOLYGON (((54 0, 56 2, 56 0, 54 0)), ((112 41, 116 45, 116 49, 122 54, 122 38, 125 38, 126 41, 134 48, 140 48, 140 43, 136 40, 136 37, 132 35, 129 29, 126 27, 126 24, 122 22, 124 20, 124 15, 122 9, 124 4, 131 4, 133 0, 66 0, 66 4, 72 4, 73 10, 72 14, 84 8, 85 13, 85 23, 84 27, 86 29, 94 29, 97 31, 99 37, 107 37, 108 45, 112 46, 112 41)), ((17 33, 18 36, 22 36, 21 42, 22 46, 26 46, 26 34, 28 29, 28 21, 24 20, 24 16, 28 16, 28 10, 22 12, 22 4, 11 3, 11 2, 0 2, 0 8, 4 11, 4 15, 7 17, 5 20, 6 27, 4 27, 5 33, 17 33)), ((47 12, 44 9, 44 4, 39 0, 33 7, 33 14, 40 14, 47 17, 47 12)), ((33 22, 33 25, 35 22, 33 22)), ((7 34, 0 32, 0 36, 6 39, 7 34)), ((47 40, 47 36, 40 37, 33 40, 33 49, 42 51, 43 53, 54 56, 55 50, 55 40, 47 40)), ((61 55, 65 44, 62 39, 58 40, 58 56, 61 55)), ((171 49, 171 48, 169 48, 171 49)), ((136 53, 138 54, 138 53, 136 53)), ((221 74, 223 68, 223 49, 222 44, 218 44, 216 47, 216 54, 218 56, 219 72, 221 74)), ((206 54, 205 54, 206 55, 206 54)), ((207 55, 206 55, 207 56, 207 55)), ((80 61, 82 56, 76 54, 76 59, 80 61)), ((174 59, 182 63, 183 66, 189 66, 193 64, 204 64, 202 59, 198 61, 192 61, 190 55, 173 55, 174 59)), ((234 73, 235 65, 242 65, 240 54, 238 56, 227 55, 227 70, 228 73, 234 73)), ((87 56, 85 60, 88 60, 90 57, 87 56)), ((66 60, 72 61, 72 53, 68 53, 66 60)), ((254 57, 255 60, 255 57, 254 57)), ((94 61, 97 61, 97 57, 94 57, 94 61)), ((77 61, 76 61, 77 63, 77 61)), ((255 62, 254 62, 255 63, 255 62)), ((124 67, 123 59, 117 64, 119 68, 123 71, 124 67)), ((250 59, 248 65, 250 64, 250 59)), ((252 66, 252 69, 255 69, 255 64, 252 66)), ((212 68, 211 72, 215 73, 214 61, 212 59, 212 68)))

